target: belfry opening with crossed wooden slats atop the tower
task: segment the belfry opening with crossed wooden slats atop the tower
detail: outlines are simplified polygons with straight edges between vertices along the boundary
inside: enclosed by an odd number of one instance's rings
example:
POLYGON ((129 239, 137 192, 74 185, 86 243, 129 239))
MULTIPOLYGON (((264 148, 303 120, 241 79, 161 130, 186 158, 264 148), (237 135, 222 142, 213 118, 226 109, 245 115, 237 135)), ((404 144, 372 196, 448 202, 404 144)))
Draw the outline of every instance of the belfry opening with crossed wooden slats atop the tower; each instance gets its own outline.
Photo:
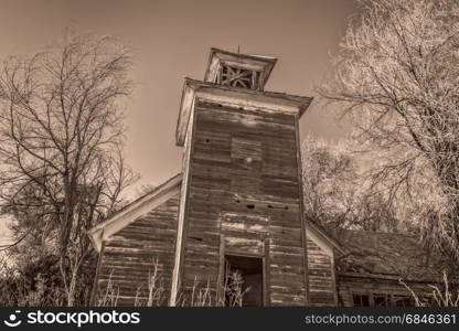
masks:
POLYGON ((222 85, 257 89, 259 73, 230 65, 221 65, 217 83, 222 85))

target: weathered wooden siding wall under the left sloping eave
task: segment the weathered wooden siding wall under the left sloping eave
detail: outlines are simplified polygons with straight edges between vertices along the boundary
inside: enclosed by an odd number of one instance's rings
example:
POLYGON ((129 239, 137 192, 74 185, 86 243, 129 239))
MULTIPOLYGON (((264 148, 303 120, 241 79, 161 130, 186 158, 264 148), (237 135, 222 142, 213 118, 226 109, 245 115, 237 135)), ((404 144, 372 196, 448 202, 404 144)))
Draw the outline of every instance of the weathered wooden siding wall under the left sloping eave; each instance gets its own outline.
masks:
POLYGON ((104 242, 99 257, 99 293, 105 291, 110 279, 119 290, 118 306, 134 306, 136 295, 147 296, 149 273, 153 271, 153 260, 158 259, 160 281, 164 288, 162 305, 168 305, 178 207, 179 193, 104 242))

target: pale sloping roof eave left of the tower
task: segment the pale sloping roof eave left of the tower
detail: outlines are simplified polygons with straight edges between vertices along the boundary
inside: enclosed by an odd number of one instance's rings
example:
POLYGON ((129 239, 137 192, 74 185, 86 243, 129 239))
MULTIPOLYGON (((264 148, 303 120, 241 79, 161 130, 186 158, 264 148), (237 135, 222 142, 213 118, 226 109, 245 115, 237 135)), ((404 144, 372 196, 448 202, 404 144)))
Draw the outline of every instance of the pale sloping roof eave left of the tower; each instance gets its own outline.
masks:
POLYGON ((97 252, 100 252, 104 239, 107 239, 110 235, 120 231, 139 217, 148 214, 152 209, 161 205, 174 194, 179 193, 181 183, 182 174, 179 173, 161 185, 154 188, 152 191, 136 199, 127 206, 108 217, 106 221, 92 227, 88 231, 88 236, 93 246, 97 249, 97 252))

